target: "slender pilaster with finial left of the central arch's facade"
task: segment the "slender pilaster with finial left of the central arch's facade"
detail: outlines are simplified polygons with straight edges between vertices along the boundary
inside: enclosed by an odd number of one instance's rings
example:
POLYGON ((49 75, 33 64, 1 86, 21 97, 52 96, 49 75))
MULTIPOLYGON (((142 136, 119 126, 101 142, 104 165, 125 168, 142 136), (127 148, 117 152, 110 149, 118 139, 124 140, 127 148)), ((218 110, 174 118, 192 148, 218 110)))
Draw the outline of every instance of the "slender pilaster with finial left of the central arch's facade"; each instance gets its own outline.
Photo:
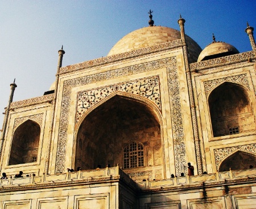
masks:
POLYGON ((59 53, 59 59, 58 59, 58 65, 57 65, 57 74, 56 74, 56 80, 55 80, 55 89, 53 93, 53 100, 52 100, 52 113, 51 113, 51 123, 50 123, 50 129, 49 129, 49 137, 48 137, 48 147, 47 147, 47 156, 46 156, 46 167, 44 169, 44 172, 46 174, 49 173, 49 160, 51 157, 51 146, 52 146, 52 139, 53 139, 53 124, 54 124, 54 119, 55 119, 55 112, 56 112, 56 99, 57 99, 57 90, 59 86, 59 72, 60 68, 62 66, 62 60, 63 60, 63 55, 65 54, 65 51, 63 50, 63 46, 61 46, 61 49, 58 51, 59 53))

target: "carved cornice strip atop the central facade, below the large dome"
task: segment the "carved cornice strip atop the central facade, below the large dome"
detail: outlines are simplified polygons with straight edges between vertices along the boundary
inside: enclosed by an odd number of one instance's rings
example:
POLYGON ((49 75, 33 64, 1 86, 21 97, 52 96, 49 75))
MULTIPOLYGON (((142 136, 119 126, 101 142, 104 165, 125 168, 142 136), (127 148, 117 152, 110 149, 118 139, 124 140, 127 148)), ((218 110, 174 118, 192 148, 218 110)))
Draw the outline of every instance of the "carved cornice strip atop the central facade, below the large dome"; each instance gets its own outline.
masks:
POLYGON ((138 57, 138 56, 142 56, 142 55, 146 55, 146 54, 150 54, 150 53, 160 52, 163 50, 173 49, 173 48, 177 48, 177 47, 180 47, 183 45, 184 44, 182 44, 181 39, 177 39, 174 41, 165 42, 165 43, 158 44, 155 46, 132 50, 130 52, 114 54, 114 55, 108 56, 108 57, 92 59, 90 61, 77 63, 75 65, 61 67, 59 75, 65 74, 65 73, 68 73, 71 71, 75 71, 75 70, 81 70, 81 69, 86 69, 89 67, 104 65, 106 63, 117 62, 117 61, 121 61, 123 59, 128 59, 128 58, 138 57))

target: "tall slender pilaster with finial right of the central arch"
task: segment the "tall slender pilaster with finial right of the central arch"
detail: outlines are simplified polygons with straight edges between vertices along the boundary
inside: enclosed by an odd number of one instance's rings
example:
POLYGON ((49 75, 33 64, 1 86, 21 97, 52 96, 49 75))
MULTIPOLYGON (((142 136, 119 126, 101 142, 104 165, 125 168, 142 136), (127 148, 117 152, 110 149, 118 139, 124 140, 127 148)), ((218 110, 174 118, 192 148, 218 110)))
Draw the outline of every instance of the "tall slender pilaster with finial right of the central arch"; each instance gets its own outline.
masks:
POLYGON ((181 15, 180 15, 180 19, 177 22, 180 25, 180 36, 181 36, 181 41, 183 43, 183 54, 184 54, 184 61, 185 61, 185 71, 186 71, 186 74, 187 74, 189 102, 190 102, 190 105, 191 105, 191 117, 192 117, 193 135, 194 135, 195 148, 196 148, 197 172, 198 172, 198 174, 202 174, 203 173, 203 163, 202 163, 202 156, 201 156, 199 130, 198 130, 198 126, 197 126, 195 98, 193 96, 193 86, 192 86, 191 71, 189 69, 188 48, 187 48, 187 44, 186 44, 186 40, 185 40, 185 29, 184 29, 185 20, 183 18, 181 18, 181 15))

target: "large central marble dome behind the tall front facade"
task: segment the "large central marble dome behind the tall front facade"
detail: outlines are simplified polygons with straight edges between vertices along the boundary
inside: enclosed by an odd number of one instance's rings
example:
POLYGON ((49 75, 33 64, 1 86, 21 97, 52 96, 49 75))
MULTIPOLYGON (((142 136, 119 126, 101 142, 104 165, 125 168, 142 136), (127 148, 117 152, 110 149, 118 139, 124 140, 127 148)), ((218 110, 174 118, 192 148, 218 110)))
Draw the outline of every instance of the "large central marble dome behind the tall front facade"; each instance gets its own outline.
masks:
MULTIPOLYGON (((176 29, 162 26, 145 27, 124 36, 113 46, 108 56, 130 52, 131 50, 154 46, 177 39, 180 39, 180 32, 176 29)), ((189 36, 186 36, 186 39, 189 56, 192 61, 196 61, 202 49, 189 36)))

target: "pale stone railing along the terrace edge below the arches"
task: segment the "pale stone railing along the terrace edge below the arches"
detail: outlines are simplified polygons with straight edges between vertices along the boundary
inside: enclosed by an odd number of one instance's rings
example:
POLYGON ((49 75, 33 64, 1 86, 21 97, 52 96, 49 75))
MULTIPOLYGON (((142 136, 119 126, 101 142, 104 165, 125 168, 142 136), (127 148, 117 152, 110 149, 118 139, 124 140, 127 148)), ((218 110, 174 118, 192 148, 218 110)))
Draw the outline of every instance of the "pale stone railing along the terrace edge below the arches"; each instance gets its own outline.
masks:
POLYGON ((6 180, 0 181, 0 191, 11 189, 19 189, 21 186, 36 187, 44 185, 67 185, 93 182, 108 182, 113 180, 125 181, 131 187, 139 189, 157 189, 163 187, 182 187, 188 185, 198 185, 210 182, 225 182, 228 180, 246 181, 249 178, 256 178, 256 169, 247 170, 229 170, 226 172, 217 172, 211 174, 203 174, 199 176, 184 176, 175 177, 166 180, 144 180, 142 182, 135 182, 122 169, 117 167, 94 169, 94 170, 79 170, 78 172, 68 172, 59 174, 47 174, 43 176, 29 176, 22 178, 12 178, 11 176, 6 180), (34 185, 34 186, 33 186, 34 185))

